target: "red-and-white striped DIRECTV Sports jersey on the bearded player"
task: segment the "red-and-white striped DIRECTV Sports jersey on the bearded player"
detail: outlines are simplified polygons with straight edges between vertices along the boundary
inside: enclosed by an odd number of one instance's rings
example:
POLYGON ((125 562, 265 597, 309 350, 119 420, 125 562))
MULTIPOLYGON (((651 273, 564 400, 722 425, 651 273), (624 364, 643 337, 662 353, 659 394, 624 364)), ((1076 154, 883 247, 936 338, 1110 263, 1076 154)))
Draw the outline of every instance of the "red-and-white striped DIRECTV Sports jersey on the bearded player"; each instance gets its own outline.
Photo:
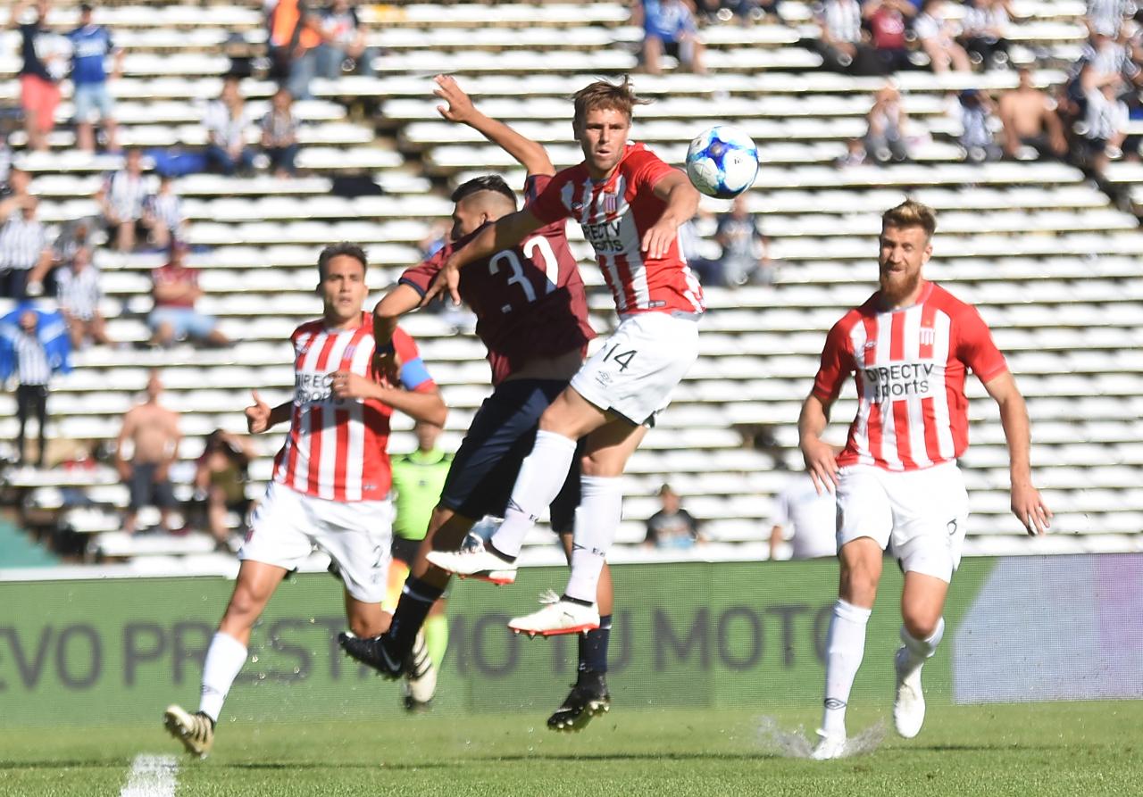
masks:
POLYGON ((838 465, 919 470, 968 448, 965 373, 986 383, 1007 370, 976 308, 935 283, 920 300, 878 308, 879 293, 830 330, 814 395, 832 402, 853 372, 857 417, 838 465))

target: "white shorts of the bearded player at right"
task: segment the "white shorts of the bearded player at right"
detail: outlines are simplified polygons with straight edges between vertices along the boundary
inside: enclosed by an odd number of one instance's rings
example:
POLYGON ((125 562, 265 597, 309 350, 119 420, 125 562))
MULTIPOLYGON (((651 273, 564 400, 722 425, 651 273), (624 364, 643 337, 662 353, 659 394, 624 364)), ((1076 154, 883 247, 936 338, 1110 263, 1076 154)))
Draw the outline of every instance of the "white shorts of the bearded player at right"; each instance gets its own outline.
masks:
POLYGON ((849 465, 838 472, 839 550, 870 537, 905 572, 951 581, 967 522, 968 492, 956 462, 904 472, 849 465))

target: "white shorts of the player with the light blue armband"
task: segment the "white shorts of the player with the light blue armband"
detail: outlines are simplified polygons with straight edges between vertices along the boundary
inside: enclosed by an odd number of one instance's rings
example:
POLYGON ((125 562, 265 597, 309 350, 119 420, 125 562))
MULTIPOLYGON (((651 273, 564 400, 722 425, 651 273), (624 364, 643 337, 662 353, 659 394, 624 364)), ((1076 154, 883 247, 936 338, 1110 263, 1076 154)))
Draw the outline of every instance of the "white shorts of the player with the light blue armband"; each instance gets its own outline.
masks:
POLYGON ((387 499, 330 501, 271 482, 238 558, 295 570, 317 548, 337 565, 345 591, 362 603, 381 603, 392 539, 387 499))

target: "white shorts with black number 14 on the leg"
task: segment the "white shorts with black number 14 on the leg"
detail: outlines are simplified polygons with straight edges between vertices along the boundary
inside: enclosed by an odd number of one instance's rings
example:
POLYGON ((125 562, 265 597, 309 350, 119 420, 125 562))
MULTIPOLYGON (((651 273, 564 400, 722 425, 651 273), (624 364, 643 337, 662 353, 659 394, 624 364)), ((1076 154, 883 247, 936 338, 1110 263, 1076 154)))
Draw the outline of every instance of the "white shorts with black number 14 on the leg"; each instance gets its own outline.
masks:
POLYGON ((697 359, 696 319, 640 313, 620 322, 572 377, 572 387, 601 410, 652 426, 697 359))

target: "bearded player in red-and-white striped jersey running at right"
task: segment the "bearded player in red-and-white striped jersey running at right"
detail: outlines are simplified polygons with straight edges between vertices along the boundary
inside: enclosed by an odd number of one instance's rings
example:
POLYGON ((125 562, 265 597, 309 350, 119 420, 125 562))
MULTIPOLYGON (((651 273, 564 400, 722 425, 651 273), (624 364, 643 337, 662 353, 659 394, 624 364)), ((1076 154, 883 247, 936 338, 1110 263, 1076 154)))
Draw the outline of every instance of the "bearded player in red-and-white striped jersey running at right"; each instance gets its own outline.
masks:
POLYGON ((806 467, 833 490, 841 578, 826 639, 825 711, 818 759, 846 755, 846 702, 865 649, 887 547, 905 574, 893 719, 911 739, 925 720, 921 667, 944 634, 944 601, 960 563, 968 494, 957 458, 968 448, 969 369, 1000 408, 1008 442, 1012 510, 1030 534, 1052 518, 1032 486, 1028 409, 976 308, 921 275, 933 253, 933 211, 912 200, 881 217, 881 288, 830 330, 814 388, 801 408, 806 467), (834 459, 821 435, 853 373, 857 417, 834 459))

